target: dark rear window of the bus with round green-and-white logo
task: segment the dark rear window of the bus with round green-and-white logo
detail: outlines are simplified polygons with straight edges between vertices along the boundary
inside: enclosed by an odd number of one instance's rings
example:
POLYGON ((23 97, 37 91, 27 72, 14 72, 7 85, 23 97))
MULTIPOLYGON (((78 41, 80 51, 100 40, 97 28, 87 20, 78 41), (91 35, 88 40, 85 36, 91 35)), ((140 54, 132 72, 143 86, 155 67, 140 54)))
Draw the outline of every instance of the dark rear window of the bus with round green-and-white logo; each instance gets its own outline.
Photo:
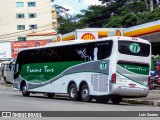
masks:
POLYGON ((150 55, 150 45, 135 41, 118 41, 118 51, 121 54, 148 57, 150 55))

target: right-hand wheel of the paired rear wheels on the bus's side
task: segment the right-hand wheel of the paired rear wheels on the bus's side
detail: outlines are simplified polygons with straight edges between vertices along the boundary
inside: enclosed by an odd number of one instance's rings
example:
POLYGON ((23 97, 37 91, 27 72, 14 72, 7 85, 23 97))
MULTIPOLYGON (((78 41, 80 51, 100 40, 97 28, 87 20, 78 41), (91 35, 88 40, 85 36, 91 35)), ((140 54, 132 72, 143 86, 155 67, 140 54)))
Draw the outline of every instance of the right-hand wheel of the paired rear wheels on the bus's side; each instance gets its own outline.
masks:
POLYGON ((82 102, 90 102, 91 96, 89 95, 89 88, 87 84, 84 84, 81 89, 81 100, 82 102))

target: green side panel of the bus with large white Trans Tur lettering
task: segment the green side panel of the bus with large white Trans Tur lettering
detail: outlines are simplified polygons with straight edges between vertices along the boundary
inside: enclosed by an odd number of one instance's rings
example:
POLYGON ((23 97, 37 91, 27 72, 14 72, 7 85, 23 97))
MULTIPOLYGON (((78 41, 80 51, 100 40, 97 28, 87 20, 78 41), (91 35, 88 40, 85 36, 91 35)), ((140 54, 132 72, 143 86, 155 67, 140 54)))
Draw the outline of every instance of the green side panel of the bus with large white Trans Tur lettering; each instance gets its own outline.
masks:
POLYGON ((84 63, 83 61, 76 62, 52 62, 52 63, 34 63, 25 64, 22 66, 21 77, 30 82, 45 82, 66 69, 84 63))

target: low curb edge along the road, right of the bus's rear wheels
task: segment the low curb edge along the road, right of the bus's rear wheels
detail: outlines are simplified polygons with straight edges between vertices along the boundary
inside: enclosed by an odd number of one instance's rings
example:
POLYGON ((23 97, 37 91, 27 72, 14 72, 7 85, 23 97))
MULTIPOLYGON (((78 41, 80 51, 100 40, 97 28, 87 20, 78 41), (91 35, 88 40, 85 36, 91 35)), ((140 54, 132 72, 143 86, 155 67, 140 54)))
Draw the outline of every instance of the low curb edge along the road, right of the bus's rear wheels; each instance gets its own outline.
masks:
POLYGON ((139 99, 123 99, 123 102, 130 104, 154 105, 160 107, 159 100, 139 100, 139 99))

